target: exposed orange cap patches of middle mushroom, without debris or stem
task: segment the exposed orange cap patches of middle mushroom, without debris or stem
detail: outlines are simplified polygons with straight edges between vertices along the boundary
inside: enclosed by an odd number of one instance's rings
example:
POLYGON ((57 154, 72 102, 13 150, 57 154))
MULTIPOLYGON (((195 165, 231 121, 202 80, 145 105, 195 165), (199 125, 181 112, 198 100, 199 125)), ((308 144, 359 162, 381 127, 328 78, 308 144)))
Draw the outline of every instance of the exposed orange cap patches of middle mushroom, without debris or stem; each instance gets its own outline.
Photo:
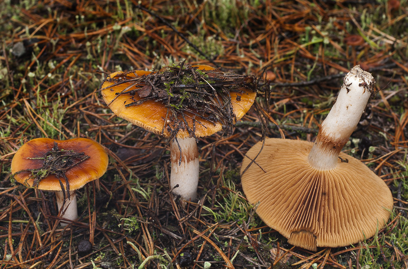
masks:
MULTIPOLYGON (((200 65, 197 66, 201 70, 213 70, 214 68, 207 65, 200 65)), ((122 73, 121 71, 114 72, 110 76, 114 77, 117 74, 122 73)), ((142 76, 146 74, 150 74, 151 72, 148 71, 135 71, 134 73, 129 73, 128 76, 136 77, 142 76)), ((154 133, 161 133, 163 130, 163 126, 165 125, 165 118, 167 113, 167 108, 161 102, 155 102, 154 100, 147 100, 139 105, 132 105, 129 107, 124 106, 124 102, 129 99, 126 95, 119 95, 117 96, 116 93, 123 91, 127 86, 131 83, 124 83, 122 85, 115 86, 113 88, 107 88, 113 85, 114 82, 105 82, 102 85, 101 94, 107 104, 111 103, 109 107, 113 113, 115 113, 118 117, 125 119, 133 124, 140 126, 146 130, 152 131, 154 133)), ((248 112, 250 109, 255 97, 257 95, 256 92, 252 92, 247 89, 241 89, 244 93, 238 92, 231 92, 231 100, 234 109, 234 113, 237 117, 237 120, 242 118, 245 113, 248 112), (240 96, 237 98, 237 96, 240 96), (239 100, 237 100, 239 99, 239 100)), ((140 100, 138 93, 133 96, 135 101, 140 100)), ((185 113, 186 121, 189 126, 193 126, 193 118, 194 115, 190 113, 185 113)), ((205 137, 211 136, 211 134, 219 131, 222 129, 221 123, 217 122, 213 124, 212 122, 195 117, 195 120, 199 121, 201 124, 195 124, 195 136, 196 137, 205 137)), ((170 133, 168 130, 164 129, 164 136, 169 137, 170 133)), ((177 132, 178 138, 187 138, 190 137, 187 130, 179 130, 177 132)))

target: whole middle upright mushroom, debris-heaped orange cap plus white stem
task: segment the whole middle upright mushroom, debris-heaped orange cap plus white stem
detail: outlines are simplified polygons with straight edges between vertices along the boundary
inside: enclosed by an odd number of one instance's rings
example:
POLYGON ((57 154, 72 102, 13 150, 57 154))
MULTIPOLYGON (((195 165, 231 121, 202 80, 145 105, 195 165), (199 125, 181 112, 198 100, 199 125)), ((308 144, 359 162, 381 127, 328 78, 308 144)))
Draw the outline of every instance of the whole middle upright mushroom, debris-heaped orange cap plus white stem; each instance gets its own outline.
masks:
MULTIPOLYGON (((191 67, 187 66, 187 69, 183 68, 182 64, 182 66, 177 69, 179 71, 176 72, 180 72, 179 74, 181 74, 182 70, 187 70, 191 67)), ((209 81, 215 79, 218 79, 217 81, 220 83, 225 83, 226 79, 224 79, 224 77, 233 74, 219 72, 206 65, 196 66, 193 69, 196 70, 194 72, 198 72, 197 69, 201 70, 201 74, 194 73, 194 76, 206 77, 206 79, 200 80, 199 85, 203 86, 210 85, 209 81)), ((229 113, 232 115, 232 122, 225 122, 220 119, 218 115, 211 115, 212 109, 207 110, 207 112, 197 112, 196 107, 187 107, 188 111, 185 111, 184 114, 177 109, 174 109, 173 112, 169 112, 170 105, 167 103, 167 99, 170 99, 172 96, 171 87, 172 85, 178 85, 177 83, 179 83, 180 80, 171 82, 173 84, 165 82, 165 85, 169 85, 166 89, 167 92, 160 90, 158 96, 149 95, 150 91, 155 90, 155 83, 160 83, 162 79, 165 79, 163 76, 158 78, 158 76, 152 75, 161 74, 164 71, 166 71, 166 69, 162 69, 158 73, 147 71, 112 73, 101 85, 101 94, 110 109, 118 117, 130 121, 146 130, 170 138, 170 187, 175 194, 182 196, 186 200, 194 200, 197 195, 199 172, 196 138, 211 136, 211 134, 225 127, 223 125, 231 125, 235 123, 236 120, 242 118, 256 97, 256 83, 252 76, 241 76, 240 79, 242 80, 242 77, 244 79, 242 86, 236 87, 234 91, 228 93, 231 101, 218 98, 219 96, 214 94, 211 95, 211 98, 214 100, 218 99, 221 104, 220 107, 225 107, 225 109, 222 108, 223 110, 231 108, 232 111, 229 113), (149 74, 151 79, 149 83, 146 83, 149 74), (124 91, 129 94, 120 94, 124 91), (137 105, 129 105, 130 103, 136 103, 137 105), (176 115, 174 116, 174 114, 176 115), (174 132, 176 129, 177 131, 174 132)), ((193 73, 193 71, 191 71, 191 73, 193 73)), ((234 75, 236 77, 239 76, 234 75)), ((185 77, 183 79, 188 80, 185 77)), ((210 94, 208 92, 200 92, 203 86, 197 86, 196 81, 191 81, 189 85, 187 83, 183 85, 183 87, 191 89, 192 92, 198 94, 200 100, 197 101, 197 103, 204 100, 204 94, 210 94)), ((211 86, 211 88, 214 90, 213 86, 211 86)), ((209 92, 211 92, 211 89, 209 92)), ((172 107, 174 107, 174 104, 172 104, 172 107)))

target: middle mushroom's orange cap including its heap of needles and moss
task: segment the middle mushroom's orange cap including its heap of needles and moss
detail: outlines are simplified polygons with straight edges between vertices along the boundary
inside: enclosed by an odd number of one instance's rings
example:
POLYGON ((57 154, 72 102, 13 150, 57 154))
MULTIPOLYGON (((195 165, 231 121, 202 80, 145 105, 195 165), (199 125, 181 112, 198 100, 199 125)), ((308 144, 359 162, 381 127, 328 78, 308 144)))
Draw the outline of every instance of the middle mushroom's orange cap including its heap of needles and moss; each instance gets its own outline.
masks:
POLYGON ((231 129, 249 110, 256 90, 253 76, 183 63, 158 72, 115 72, 101 85, 105 102, 117 116, 178 138, 231 129))

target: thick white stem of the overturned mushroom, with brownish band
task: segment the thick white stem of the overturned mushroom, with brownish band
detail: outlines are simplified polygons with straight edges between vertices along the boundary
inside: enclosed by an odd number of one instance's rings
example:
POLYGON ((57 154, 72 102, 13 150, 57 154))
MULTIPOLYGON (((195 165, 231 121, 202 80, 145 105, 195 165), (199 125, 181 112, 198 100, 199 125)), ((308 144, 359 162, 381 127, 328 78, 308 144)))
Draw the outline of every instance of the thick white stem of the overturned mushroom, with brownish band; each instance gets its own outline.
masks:
POLYGON ((308 160, 311 166, 320 170, 336 167, 339 153, 359 123, 374 83, 372 75, 359 65, 346 74, 336 103, 320 125, 310 151, 308 160))

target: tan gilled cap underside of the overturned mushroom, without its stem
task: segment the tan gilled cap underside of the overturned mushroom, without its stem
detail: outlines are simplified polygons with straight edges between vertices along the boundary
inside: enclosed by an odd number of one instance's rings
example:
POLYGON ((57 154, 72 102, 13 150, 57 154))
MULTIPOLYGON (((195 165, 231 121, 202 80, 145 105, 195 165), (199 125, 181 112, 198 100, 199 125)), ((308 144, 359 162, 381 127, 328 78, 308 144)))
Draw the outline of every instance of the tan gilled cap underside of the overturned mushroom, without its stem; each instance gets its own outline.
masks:
MULTIPOLYGON (((292 245, 347 246, 373 236, 390 217, 393 198, 388 186, 360 160, 347 154, 335 169, 319 171, 308 163, 313 143, 266 139, 256 162, 242 175, 248 201, 257 213, 292 245), (377 226, 378 225, 378 226, 377 226)), ((254 145, 253 159, 262 147, 254 145)), ((245 157, 241 173, 251 162, 245 157)))

